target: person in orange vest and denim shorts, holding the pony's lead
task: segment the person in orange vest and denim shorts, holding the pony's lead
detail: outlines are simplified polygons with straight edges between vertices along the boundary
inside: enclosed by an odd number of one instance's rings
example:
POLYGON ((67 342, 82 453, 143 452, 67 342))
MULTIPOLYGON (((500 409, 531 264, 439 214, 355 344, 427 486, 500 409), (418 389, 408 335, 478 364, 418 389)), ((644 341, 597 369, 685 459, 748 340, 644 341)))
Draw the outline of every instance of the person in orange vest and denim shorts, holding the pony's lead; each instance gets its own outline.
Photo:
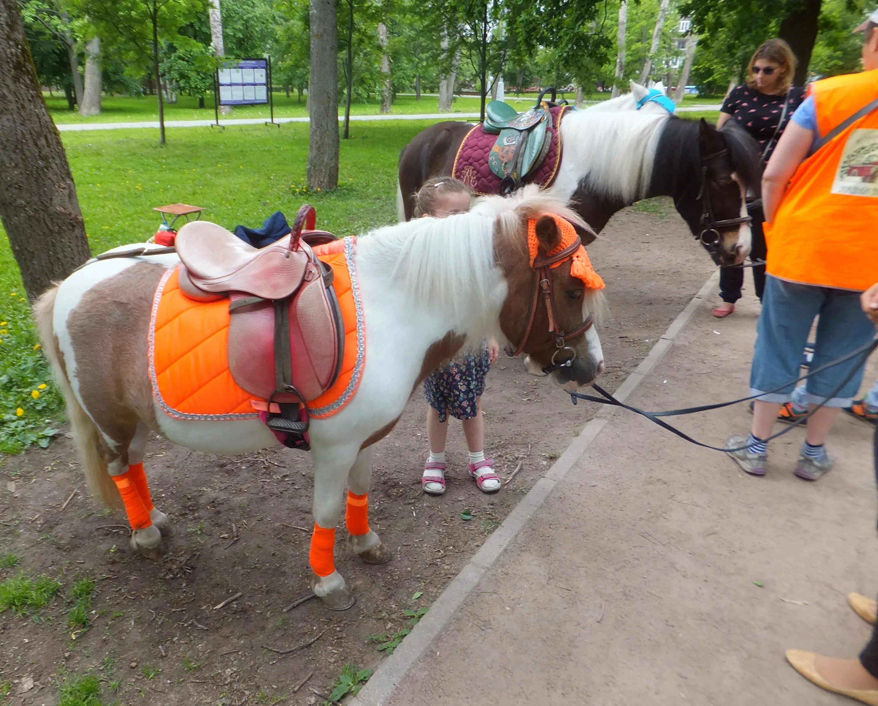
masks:
POLYGON ((767 277, 750 375, 751 393, 760 397, 750 436, 732 436, 726 445, 752 475, 767 472, 766 438, 793 392, 814 319, 820 317, 810 362, 816 372, 805 393, 812 408, 824 407, 808 420, 795 465, 802 479, 831 470, 824 442, 860 389, 863 361, 817 369, 874 336, 859 299, 878 279, 878 11, 858 30, 865 32, 866 70, 811 84, 763 176, 767 277))

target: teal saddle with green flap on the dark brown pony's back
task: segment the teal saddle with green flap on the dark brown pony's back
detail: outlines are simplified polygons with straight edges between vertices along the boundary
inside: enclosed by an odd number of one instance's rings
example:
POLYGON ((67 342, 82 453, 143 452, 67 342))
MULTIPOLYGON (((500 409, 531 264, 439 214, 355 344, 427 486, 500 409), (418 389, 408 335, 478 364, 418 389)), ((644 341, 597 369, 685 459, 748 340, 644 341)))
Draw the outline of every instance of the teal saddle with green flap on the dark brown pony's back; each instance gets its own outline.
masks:
POLYGON ((493 100, 486 105, 482 129, 496 134, 488 166, 500 178, 503 196, 520 189, 522 179, 543 162, 551 145, 551 104, 543 102, 543 96, 551 90, 555 101, 555 89, 546 89, 536 99, 536 105, 525 112, 518 112, 511 105, 493 100))

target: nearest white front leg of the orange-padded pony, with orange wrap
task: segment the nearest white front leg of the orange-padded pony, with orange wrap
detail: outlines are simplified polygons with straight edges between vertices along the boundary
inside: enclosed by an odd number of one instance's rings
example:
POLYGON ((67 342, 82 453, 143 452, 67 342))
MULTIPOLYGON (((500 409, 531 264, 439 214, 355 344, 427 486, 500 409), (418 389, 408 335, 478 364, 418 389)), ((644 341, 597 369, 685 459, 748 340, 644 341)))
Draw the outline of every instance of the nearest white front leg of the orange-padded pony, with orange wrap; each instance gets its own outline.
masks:
POLYGON ((311 590, 333 610, 349 609, 356 598, 335 571, 335 526, 344 506, 344 486, 357 449, 314 447, 314 530, 308 556, 313 576, 311 590))

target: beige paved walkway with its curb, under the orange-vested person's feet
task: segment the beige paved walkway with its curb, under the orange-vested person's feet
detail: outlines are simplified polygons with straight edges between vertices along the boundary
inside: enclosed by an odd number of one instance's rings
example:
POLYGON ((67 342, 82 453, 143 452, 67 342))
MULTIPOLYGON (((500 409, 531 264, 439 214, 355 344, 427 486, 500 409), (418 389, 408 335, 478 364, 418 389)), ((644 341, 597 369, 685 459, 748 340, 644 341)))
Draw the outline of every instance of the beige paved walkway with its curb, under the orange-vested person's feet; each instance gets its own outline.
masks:
MULTIPOLYGON (((745 299, 717 321, 716 296, 702 298, 623 384, 630 393, 639 383, 633 404, 685 407, 746 390, 758 304, 745 299)), ((568 404, 560 393, 558 404, 568 404)), ((749 423, 742 405, 680 426, 721 445, 749 423)), ((633 414, 601 414, 356 704, 847 703, 795 674, 784 651, 853 656, 867 640, 846 594, 876 588, 870 434, 840 420, 838 465, 810 484, 792 475, 800 429, 772 444, 758 479, 633 414)))

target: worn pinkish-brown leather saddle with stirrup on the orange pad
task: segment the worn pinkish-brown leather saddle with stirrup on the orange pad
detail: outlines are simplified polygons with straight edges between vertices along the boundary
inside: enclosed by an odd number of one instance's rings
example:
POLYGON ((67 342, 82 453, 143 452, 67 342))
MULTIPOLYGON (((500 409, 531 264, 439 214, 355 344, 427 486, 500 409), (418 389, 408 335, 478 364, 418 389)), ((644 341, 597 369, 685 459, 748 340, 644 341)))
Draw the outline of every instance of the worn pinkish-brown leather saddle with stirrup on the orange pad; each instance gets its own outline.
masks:
POLYGON ((269 400, 269 428, 296 437, 297 448, 307 448, 307 402, 335 383, 344 357, 333 270, 312 250, 335 235, 315 223, 313 206, 303 205, 291 233, 266 248, 205 220, 184 225, 175 241, 180 290, 197 301, 229 299, 232 377, 269 400))

